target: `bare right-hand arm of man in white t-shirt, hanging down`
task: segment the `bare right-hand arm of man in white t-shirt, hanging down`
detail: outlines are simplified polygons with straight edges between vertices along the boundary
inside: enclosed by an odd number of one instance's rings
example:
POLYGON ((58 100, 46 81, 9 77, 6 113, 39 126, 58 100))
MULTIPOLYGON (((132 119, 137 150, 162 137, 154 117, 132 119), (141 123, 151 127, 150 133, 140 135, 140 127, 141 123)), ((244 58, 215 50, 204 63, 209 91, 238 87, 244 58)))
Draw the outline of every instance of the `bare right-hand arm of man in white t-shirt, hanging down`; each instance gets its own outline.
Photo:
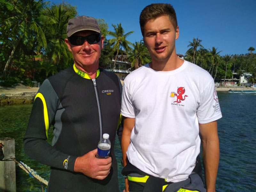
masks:
POLYGON ((217 121, 199 124, 202 136, 204 175, 207 192, 215 192, 215 183, 220 159, 217 121))

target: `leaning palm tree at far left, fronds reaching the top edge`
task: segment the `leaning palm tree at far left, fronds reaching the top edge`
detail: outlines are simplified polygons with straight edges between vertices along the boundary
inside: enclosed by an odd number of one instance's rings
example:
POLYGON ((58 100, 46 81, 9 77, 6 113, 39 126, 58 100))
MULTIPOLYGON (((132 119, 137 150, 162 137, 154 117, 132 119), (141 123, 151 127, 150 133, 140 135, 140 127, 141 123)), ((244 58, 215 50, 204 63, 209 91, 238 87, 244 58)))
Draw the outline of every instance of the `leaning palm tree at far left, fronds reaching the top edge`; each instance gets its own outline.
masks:
POLYGON ((45 34, 39 23, 40 11, 44 5, 43 0, 18 0, 13 6, 12 16, 4 20, 4 31, 9 33, 8 38, 12 40, 12 51, 5 64, 2 78, 7 75, 7 69, 20 42, 31 45, 33 44, 31 41, 35 42, 36 40, 39 47, 46 47, 45 34))

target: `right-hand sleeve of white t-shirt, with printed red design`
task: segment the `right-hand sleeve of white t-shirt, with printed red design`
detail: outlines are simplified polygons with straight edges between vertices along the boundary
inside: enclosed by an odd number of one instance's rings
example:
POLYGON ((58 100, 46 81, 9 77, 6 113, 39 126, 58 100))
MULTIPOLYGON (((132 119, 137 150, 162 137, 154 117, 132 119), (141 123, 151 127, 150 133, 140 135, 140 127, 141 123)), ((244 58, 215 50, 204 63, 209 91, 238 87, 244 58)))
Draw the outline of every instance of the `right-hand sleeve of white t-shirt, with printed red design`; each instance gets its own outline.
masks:
POLYGON ((201 93, 196 115, 200 124, 210 123, 222 117, 213 79, 201 93))

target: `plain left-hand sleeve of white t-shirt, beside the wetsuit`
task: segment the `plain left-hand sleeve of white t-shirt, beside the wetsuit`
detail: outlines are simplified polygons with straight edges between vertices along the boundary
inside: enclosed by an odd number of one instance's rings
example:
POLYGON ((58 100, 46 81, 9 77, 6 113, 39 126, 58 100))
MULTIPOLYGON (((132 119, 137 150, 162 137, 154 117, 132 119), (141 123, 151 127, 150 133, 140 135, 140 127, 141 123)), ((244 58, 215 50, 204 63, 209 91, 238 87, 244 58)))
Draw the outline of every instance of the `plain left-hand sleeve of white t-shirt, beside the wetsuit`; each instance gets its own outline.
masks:
POLYGON ((121 114, 125 117, 135 118, 135 108, 132 105, 130 90, 125 84, 122 92, 121 114))

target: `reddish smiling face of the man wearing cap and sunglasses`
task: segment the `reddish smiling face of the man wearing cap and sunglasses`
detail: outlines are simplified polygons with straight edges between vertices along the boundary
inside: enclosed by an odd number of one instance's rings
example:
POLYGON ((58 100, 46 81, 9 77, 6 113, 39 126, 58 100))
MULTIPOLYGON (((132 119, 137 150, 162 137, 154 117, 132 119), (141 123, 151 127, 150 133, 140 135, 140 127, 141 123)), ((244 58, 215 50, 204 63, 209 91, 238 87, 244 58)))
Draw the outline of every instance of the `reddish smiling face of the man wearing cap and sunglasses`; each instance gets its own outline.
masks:
MULTIPOLYGON (((89 36, 95 32, 85 30, 76 32, 75 36, 89 36)), ((73 35, 72 35, 73 36, 73 35)), ((100 42, 95 44, 89 44, 87 41, 84 41, 82 45, 73 45, 68 39, 65 39, 65 42, 68 46, 69 51, 72 53, 74 62, 78 68, 92 67, 92 65, 99 66, 100 52, 103 49, 104 37, 100 37, 100 42)))

